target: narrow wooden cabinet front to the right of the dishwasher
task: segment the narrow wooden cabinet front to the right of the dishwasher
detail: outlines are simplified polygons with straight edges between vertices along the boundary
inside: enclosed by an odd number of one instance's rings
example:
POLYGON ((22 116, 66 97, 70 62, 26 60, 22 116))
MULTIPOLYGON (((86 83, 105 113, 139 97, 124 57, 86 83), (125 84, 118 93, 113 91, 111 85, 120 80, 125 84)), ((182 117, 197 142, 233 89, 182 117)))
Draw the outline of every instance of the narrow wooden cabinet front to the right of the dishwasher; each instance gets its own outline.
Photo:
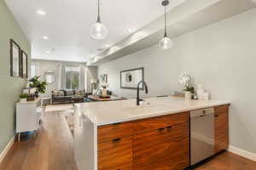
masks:
POLYGON ((229 105, 215 107, 214 120, 215 152, 229 147, 229 105))

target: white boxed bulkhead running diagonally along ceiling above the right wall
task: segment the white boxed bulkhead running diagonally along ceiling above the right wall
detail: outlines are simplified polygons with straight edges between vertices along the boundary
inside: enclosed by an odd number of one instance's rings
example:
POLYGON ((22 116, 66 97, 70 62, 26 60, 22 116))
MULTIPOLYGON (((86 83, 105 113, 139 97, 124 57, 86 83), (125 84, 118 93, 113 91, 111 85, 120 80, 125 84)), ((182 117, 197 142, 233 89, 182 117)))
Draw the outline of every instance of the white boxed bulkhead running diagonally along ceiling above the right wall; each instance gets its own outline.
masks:
MULTIPOLYGON (((256 3, 252 0, 186 1, 166 14, 167 34, 173 39, 255 7, 256 3)), ((160 16, 113 47, 104 50, 102 54, 90 59, 87 65, 102 65, 157 44, 164 35, 163 20, 164 16, 160 16)))

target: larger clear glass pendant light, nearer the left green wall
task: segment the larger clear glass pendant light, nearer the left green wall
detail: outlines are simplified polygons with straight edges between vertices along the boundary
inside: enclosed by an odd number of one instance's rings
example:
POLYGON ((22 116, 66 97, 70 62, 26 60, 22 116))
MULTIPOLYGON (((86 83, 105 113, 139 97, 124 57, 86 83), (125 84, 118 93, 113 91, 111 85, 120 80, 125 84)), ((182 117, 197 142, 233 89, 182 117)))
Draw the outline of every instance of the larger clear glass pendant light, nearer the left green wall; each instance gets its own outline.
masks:
POLYGON ((96 23, 90 26, 90 37, 93 39, 104 39, 108 36, 108 29, 102 24, 100 15, 100 0, 98 0, 98 17, 96 23))

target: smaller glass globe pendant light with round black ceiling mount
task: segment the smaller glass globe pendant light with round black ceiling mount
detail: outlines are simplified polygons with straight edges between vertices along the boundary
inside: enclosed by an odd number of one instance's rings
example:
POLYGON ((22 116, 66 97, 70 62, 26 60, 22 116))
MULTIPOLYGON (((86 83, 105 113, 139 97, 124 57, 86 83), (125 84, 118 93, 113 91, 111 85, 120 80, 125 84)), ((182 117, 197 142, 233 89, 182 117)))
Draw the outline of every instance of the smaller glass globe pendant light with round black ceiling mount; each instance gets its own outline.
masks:
POLYGON ((172 40, 167 37, 167 31, 166 31, 166 6, 169 4, 169 0, 164 0, 162 2, 162 5, 165 7, 165 35, 162 39, 160 39, 159 46, 162 49, 168 49, 172 48, 172 40))

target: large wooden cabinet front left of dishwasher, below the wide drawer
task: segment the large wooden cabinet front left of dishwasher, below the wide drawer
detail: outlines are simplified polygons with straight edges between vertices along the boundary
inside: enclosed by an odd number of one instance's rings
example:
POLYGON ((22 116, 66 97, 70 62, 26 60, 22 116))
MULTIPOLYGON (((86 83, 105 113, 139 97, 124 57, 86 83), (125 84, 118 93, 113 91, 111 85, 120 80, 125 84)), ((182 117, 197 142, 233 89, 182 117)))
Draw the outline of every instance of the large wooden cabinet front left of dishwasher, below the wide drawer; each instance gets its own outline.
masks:
POLYGON ((133 170, 181 170, 188 166, 188 123, 134 136, 133 170))

